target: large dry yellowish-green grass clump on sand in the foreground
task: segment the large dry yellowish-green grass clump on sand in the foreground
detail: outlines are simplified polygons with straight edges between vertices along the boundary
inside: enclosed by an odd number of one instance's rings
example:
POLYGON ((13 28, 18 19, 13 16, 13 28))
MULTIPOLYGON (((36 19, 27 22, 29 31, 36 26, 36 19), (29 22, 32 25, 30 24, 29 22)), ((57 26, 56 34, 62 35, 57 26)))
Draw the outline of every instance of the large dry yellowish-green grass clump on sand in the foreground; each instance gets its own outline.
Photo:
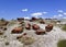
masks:
POLYGON ((23 43, 24 45, 31 45, 35 42, 35 39, 24 33, 22 36, 19 37, 19 42, 23 43))

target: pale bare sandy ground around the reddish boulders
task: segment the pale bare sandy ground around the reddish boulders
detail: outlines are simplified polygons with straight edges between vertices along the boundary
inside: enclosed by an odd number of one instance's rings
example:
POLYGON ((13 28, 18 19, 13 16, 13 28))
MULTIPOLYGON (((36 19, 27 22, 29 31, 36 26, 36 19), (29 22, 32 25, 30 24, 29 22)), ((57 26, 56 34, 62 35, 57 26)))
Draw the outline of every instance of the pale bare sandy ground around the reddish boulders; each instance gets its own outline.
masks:
MULTIPOLYGON (((46 24, 37 24, 41 28, 44 28, 46 24)), ((25 30, 23 33, 28 33, 28 35, 34 37, 36 40, 32 45, 23 45, 21 42, 16 39, 16 36, 21 34, 11 34, 11 31, 19 26, 19 24, 14 24, 12 26, 8 26, 8 30, 4 32, 6 38, 0 37, 0 47, 57 47, 57 42, 61 39, 66 39, 66 32, 63 32, 59 27, 54 26, 52 32, 48 32, 44 35, 34 34, 35 31, 25 30), (10 45, 6 45, 4 43, 9 42, 10 45)))

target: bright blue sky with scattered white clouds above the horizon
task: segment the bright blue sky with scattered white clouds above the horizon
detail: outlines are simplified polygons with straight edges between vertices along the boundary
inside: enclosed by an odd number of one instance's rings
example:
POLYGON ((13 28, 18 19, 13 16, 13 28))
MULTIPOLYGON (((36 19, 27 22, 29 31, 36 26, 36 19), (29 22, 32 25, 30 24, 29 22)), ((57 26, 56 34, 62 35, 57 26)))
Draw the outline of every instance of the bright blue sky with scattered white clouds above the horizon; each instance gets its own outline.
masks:
POLYGON ((0 19, 65 17, 66 0, 0 0, 0 19))

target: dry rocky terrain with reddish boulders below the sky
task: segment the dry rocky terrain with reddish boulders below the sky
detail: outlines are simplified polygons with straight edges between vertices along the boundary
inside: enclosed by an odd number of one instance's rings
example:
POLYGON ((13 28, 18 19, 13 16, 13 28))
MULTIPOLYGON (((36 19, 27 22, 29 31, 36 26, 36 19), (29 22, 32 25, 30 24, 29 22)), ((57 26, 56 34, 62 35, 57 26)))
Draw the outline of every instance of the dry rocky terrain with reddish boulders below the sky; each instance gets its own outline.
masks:
POLYGON ((66 47, 66 20, 1 19, 0 47, 66 47))

